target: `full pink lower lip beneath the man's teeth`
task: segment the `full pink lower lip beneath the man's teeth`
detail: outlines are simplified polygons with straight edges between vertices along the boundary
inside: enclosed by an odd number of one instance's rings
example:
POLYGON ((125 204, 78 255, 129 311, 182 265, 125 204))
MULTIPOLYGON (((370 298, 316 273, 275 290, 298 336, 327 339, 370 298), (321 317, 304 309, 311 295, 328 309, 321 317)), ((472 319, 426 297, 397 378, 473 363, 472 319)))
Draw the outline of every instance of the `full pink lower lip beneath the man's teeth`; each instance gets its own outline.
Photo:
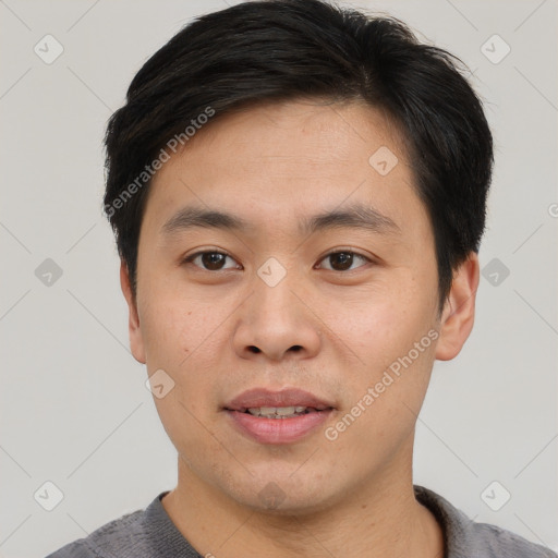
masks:
POLYGON ((234 426, 259 444, 289 444, 300 440, 324 424, 331 409, 289 418, 264 418, 240 411, 227 411, 234 426))

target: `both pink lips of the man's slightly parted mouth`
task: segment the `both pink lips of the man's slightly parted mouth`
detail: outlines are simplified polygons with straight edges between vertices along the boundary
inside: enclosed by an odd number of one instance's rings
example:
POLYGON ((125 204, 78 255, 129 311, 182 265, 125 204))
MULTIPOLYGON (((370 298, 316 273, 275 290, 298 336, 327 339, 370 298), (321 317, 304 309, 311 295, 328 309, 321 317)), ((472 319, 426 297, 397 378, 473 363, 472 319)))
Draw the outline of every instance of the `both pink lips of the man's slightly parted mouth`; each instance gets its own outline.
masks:
POLYGON ((323 425, 335 411, 331 402, 301 389, 270 391, 251 389, 235 397, 223 410, 232 425, 242 435, 258 444, 291 444, 300 440, 323 425), (246 413, 254 407, 312 407, 316 412, 288 418, 264 418, 246 413))

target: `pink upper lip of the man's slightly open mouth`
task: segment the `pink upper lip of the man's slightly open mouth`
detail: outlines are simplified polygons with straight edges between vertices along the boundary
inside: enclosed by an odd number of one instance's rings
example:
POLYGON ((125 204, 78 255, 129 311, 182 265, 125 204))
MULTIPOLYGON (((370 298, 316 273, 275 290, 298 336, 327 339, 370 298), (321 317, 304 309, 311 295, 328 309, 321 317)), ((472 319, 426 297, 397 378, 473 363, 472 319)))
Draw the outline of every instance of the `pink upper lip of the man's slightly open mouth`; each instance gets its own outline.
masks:
POLYGON ((255 388, 243 391, 229 401, 225 409, 229 411, 246 411, 258 407, 312 407, 314 409, 333 408, 332 403, 320 399, 302 389, 282 389, 272 391, 266 388, 255 388))

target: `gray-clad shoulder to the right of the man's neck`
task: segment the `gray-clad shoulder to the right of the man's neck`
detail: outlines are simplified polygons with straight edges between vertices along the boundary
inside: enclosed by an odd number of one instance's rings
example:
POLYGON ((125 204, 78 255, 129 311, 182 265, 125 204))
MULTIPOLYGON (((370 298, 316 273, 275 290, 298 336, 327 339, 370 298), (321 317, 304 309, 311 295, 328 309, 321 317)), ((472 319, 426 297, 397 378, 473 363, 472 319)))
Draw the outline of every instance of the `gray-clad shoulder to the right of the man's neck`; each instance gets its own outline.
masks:
POLYGON ((475 523, 438 494, 414 486, 418 502, 438 520, 447 545, 448 558, 558 558, 549 548, 531 543, 511 531, 475 523))

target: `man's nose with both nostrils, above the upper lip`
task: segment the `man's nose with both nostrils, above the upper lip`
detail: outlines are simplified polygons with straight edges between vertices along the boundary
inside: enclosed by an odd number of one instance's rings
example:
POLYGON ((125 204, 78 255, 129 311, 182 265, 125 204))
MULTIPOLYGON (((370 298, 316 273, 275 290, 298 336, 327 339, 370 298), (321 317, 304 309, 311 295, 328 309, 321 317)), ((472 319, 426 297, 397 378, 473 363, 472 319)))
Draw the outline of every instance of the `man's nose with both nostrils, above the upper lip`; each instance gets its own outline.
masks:
POLYGON ((292 276, 289 271, 274 287, 258 276, 254 278, 254 291, 236 314, 239 322, 232 342, 239 356, 277 362, 318 353, 319 313, 292 276), (291 353, 295 354, 289 356, 291 353))

